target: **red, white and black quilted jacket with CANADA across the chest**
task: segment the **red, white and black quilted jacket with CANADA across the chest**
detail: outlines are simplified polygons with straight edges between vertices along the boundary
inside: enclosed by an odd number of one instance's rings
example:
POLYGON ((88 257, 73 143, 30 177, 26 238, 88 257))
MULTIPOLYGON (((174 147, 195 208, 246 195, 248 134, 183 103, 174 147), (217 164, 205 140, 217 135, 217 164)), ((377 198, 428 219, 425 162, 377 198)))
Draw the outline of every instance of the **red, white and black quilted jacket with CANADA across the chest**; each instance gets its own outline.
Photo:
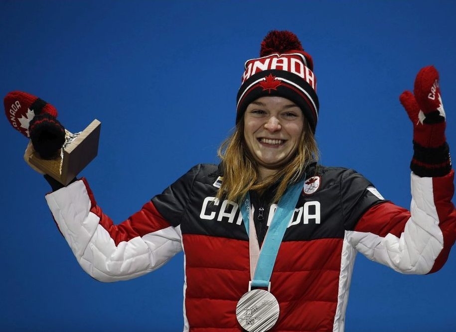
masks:
MULTIPOLYGON (((439 178, 412 173, 410 212, 353 170, 312 165, 306 174, 271 277, 280 304, 271 331, 343 332, 357 252, 410 274, 435 272, 447 260, 456 237, 453 170, 439 178)), ((92 277, 132 279, 183 250, 184 331, 242 331, 235 312, 250 280, 249 241, 239 206, 215 198, 220 175, 216 165, 197 165, 120 224, 102 212, 85 179, 46 200, 92 277)), ((252 205, 254 216, 261 207, 265 222, 272 219, 275 204, 252 205)))

